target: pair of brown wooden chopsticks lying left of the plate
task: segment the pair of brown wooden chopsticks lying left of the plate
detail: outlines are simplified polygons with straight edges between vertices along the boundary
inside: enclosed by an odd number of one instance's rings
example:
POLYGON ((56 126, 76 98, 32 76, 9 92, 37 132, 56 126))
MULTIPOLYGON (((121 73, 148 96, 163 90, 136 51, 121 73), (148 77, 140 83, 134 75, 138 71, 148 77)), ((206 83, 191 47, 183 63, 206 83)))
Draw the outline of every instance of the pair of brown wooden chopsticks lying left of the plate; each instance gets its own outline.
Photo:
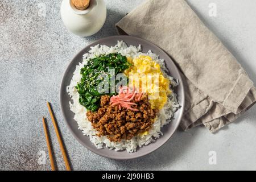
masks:
MULTIPOLYGON (((49 110, 49 114, 51 115, 53 127, 55 129, 55 133, 56 133, 58 142, 60 144, 60 150, 61 150, 61 153, 62 153, 62 156, 63 156, 63 159, 64 159, 65 167, 66 167, 67 171, 71 171, 71 167, 69 166, 69 162, 68 162, 67 153, 66 153, 65 148, 63 146, 63 142, 62 142, 62 139, 60 137, 59 129, 57 127, 57 123, 55 121, 55 117, 53 115, 52 108, 51 108, 51 105, 49 104, 49 102, 47 102, 47 107, 48 107, 48 110, 49 110)), ((52 171, 56 171, 55 163, 54 163, 54 159, 53 159, 53 155, 52 155, 52 148, 51 148, 51 144, 50 144, 49 136, 48 136, 48 130, 47 130, 47 127, 46 127, 46 119, 44 117, 43 117, 43 126, 44 126, 44 134, 46 135, 46 143, 47 143, 47 148, 48 148, 48 153, 49 153, 49 159, 50 159, 50 162, 51 162, 51 168, 52 168, 52 171)))

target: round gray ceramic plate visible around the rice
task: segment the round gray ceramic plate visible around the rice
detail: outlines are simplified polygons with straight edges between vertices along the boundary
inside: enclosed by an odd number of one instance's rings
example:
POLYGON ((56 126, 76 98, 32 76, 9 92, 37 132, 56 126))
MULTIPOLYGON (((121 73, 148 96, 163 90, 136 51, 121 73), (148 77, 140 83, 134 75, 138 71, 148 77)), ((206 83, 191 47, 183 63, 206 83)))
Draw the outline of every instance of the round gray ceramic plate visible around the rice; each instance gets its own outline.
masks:
POLYGON ((61 110, 64 116, 64 119, 71 130, 71 133, 74 135, 74 137, 79 140, 79 142, 88 148, 90 151, 95 152, 98 155, 104 156, 106 158, 112 158, 112 159, 134 159, 138 158, 140 156, 149 154, 159 147, 161 147, 164 143, 167 142, 168 139, 171 138, 172 134, 174 134, 175 130, 179 126, 181 117, 183 115, 184 111, 184 87, 183 82, 181 80, 180 73, 174 64, 174 62, 171 60, 171 58, 159 47, 156 47, 154 44, 147 42, 146 40, 135 38, 132 36, 111 36, 108 38, 104 38, 101 40, 98 40, 97 42, 94 42, 88 46, 86 46, 82 51, 80 51, 74 59, 69 64, 67 70, 64 73, 63 80, 61 83, 60 88, 60 104, 61 104, 61 110), (96 46, 97 44, 100 45, 106 45, 106 46, 114 46, 117 44, 118 40, 123 40, 128 45, 133 46, 139 46, 141 44, 142 46, 142 52, 147 52, 148 50, 151 50, 152 52, 156 53, 160 56, 160 59, 164 59, 166 61, 166 66, 170 71, 170 75, 174 78, 177 78, 179 80, 180 85, 177 87, 175 92, 177 93, 177 98, 179 100, 179 104, 181 105, 180 109, 175 113, 174 119, 169 123, 168 125, 164 126, 162 128, 163 136, 158 138, 156 142, 148 144, 148 146, 143 146, 142 148, 137 148, 137 152, 134 153, 127 153, 126 150, 124 151, 114 151, 109 150, 108 148, 104 149, 97 149, 89 140, 89 137, 86 137, 82 135, 82 131, 78 129, 77 122, 73 119, 74 113, 69 109, 69 101, 71 101, 71 98, 68 96, 67 93, 67 86, 70 84, 71 79, 73 77, 73 72, 76 69, 76 65, 79 64, 79 62, 82 61, 82 55, 84 53, 87 53, 92 46, 96 46))

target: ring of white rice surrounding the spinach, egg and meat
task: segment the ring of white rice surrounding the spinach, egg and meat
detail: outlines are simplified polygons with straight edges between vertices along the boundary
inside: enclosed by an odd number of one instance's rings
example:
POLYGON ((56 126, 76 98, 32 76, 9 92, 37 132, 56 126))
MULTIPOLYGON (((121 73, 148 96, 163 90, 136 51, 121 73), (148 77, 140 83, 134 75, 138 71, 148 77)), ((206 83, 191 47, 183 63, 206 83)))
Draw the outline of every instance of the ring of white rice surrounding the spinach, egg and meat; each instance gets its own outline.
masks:
POLYGON ((71 111, 75 113, 75 121, 77 121, 79 129, 82 130, 82 133, 86 136, 89 136, 90 141, 97 147, 97 148, 103 148, 108 147, 110 150, 125 150, 127 152, 135 152, 136 148, 142 147, 143 145, 147 145, 151 142, 155 142, 157 138, 160 137, 160 135, 163 135, 161 132, 161 127, 164 125, 167 125, 171 119, 174 117, 175 111, 180 107, 180 105, 177 102, 176 94, 172 90, 172 94, 170 97, 168 97, 168 101, 166 105, 163 107, 162 110, 159 111, 158 116, 156 117, 156 120, 151 128, 150 131, 148 131, 147 135, 143 136, 137 136, 133 137, 131 140, 122 140, 121 142, 110 142, 110 140, 107 137, 98 137, 96 136, 96 130, 93 129, 91 123, 88 121, 86 117, 86 109, 84 106, 80 105, 79 103, 79 93, 77 92, 75 86, 77 85, 77 82, 80 82, 81 75, 80 75, 80 69, 84 67, 84 65, 87 63, 87 61, 91 58, 94 58, 96 56, 100 56, 102 54, 109 54, 109 53, 115 53, 119 52, 123 56, 129 56, 129 57, 138 57, 139 55, 149 55, 152 57, 152 59, 158 63, 162 69, 162 72, 164 74, 164 77, 167 77, 171 80, 172 88, 178 85, 178 82, 174 80, 171 76, 168 76, 168 69, 166 68, 164 64, 164 60, 160 60, 159 56, 152 53, 151 51, 148 51, 147 53, 141 52, 141 46, 135 47, 135 46, 127 46, 126 43, 122 41, 118 41, 117 45, 114 47, 108 47, 108 46, 94 46, 91 47, 89 53, 85 53, 83 56, 82 63, 77 65, 76 71, 74 72, 73 78, 71 80, 71 83, 69 86, 67 86, 67 92, 69 96, 71 96, 73 103, 69 102, 69 106, 71 111))

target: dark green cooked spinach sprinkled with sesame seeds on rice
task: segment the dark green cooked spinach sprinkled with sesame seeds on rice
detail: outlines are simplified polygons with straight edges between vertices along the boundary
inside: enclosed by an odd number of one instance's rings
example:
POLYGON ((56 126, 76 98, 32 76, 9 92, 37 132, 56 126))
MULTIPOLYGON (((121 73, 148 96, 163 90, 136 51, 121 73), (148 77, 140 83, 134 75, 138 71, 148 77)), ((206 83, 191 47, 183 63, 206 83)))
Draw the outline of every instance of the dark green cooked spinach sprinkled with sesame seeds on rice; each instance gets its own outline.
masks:
MULTIPOLYGON (((96 111, 100 107, 101 96, 106 94, 101 94, 97 90, 98 84, 102 82, 102 80, 98 79, 98 76, 102 73, 108 76, 110 85, 110 69, 114 68, 115 75, 117 75, 130 68, 130 66, 131 64, 127 61, 126 56, 122 56, 120 53, 110 53, 109 55, 101 55, 90 59, 81 69, 82 78, 76 86, 80 95, 80 104, 88 110, 96 111)), ((110 93, 109 95, 113 94, 116 93, 110 93)))

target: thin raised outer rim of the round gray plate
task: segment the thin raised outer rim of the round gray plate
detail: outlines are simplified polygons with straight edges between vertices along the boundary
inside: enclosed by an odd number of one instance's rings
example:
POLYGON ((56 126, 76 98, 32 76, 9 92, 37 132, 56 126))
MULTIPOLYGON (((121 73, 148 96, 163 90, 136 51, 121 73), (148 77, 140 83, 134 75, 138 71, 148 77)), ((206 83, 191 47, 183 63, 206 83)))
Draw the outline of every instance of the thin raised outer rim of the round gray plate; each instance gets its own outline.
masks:
MULTIPOLYGON (((164 61, 166 61, 166 60, 164 60, 164 61)), ((80 62, 79 62, 79 63, 80 63, 80 62)), ((76 64, 76 65, 77 65, 77 64, 76 64)), ((64 90, 67 90, 67 89, 64 89, 64 90)), ((181 119, 182 119, 182 117, 183 117, 183 115, 184 115, 184 109, 185 109, 185 90, 184 90, 184 82, 183 82, 183 79, 182 79, 182 77, 181 77, 180 70, 179 70, 179 68, 177 67, 177 65, 176 65, 176 63, 174 62, 174 60, 172 60, 172 57, 171 57, 170 55, 168 55, 168 53, 167 53, 166 51, 164 51, 162 48, 156 46, 154 43, 151 43, 151 42, 149 42, 148 40, 144 40, 144 39, 142 39, 142 38, 138 38, 138 37, 136 37, 136 36, 130 36, 130 35, 114 35, 114 36, 108 36, 108 37, 105 37, 105 38, 102 38, 102 39, 98 39, 98 40, 96 40, 96 41, 94 41, 94 42, 92 42, 92 43, 90 43, 90 44, 87 44, 84 48, 81 49, 81 51, 79 51, 78 53, 76 53, 76 55, 73 56, 72 60, 70 61, 70 63, 69 63, 68 66, 66 67, 65 72, 64 72, 64 74, 63 74, 63 77, 61 78, 59 99, 60 99, 61 114, 62 114, 62 116, 63 116, 63 118, 64 118, 65 124, 68 126, 68 129, 69 129, 69 131, 71 131, 73 137, 74 137, 80 144, 82 144, 82 146, 84 146, 85 148, 87 148, 88 150, 90 150, 91 152, 93 152, 94 154, 103 156, 104 158, 115 159, 115 160, 130 160, 130 159, 141 158, 142 156, 151 154, 152 152, 154 152, 154 151, 158 150, 159 148, 161 148, 166 142, 168 142, 168 140, 170 140, 170 139, 172 138, 172 136, 174 135, 175 131, 176 131, 177 128, 179 127, 180 122, 181 122, 181 119), (96 148, 96 150, 95 150, 95 148, 92 148, 92 147, 86 145, 79 137, 77 137, 76 133, 71 129, 71 126, 69 126, 68 119, 67 119, 66 115, 64 114, 64 113, 65 113, 65 110, 64 110, 64 107, 63 107, 63 105, 64 105, 64 104, 63 104, 63 100, 61 99, 61 98, 63 97, 62 91, 63 91, 63 89, 64 89, 64 82, 65 82, 65 81, 64 81, 64 80, 65 80, 64 78, 65 78, 65 76, 68 74, 68 70, 72 67, 73 63, 76 61, 76 57, 79 56, 81 53, 84 54, 84 53, 85 53, 84 50, 85 50, 86 48, 92 47, 92 46, 95 45, 95 44, 97 45, 98 42, 102 42, 103 40, 112 39, 112 38, 120 38, 120 39, 122 39, 123 37, 126 37, 126 38, 133 38, 133 39, 137 39, 137 40, 142 40, 143 42, 147 42, 150 46, 152 46, 152 47, 154 47, 154 48, 156 48, 156 49, 160 49, 160 51, 163 51, 168 57, 170 57, 172 63, 174 63, 175 68, 176 68, 176 70, 177 70, 177 75, 179 75, 179 77, 180 77, 180 79, 179 79, 179 86, 181 86, 181 94, 182 94, 181 97, 183 97, 183 103, 181 103, 181 104, 179 103, 179 104, 181 105, 181 108, 180 108, 180 109, 181 109, 181 110, 180 110, 181 113, 180 113, 180 116, 179 116, 178 121, 177 121, 177 126, 175 127, 174 132, 172 133, 172 135, 171 135, 168 139, 166 139, 166 141, 164 141, 159 147, 156 147, 156 148, 154 148, 153 150, 151 150, 151 151, 149 151, 149 152, 146 152, 145 154, 138 155, 138 156, 131 156, 130 158, 111 157, 111 156, 108 156, 108 155, 105 155, 105 154, 99 154, 99 153, 97 152, 97 150, 101 150, 101 149, 96 148)), ((73 119, 73 120, 75 121, 75 119, 73 119)), ((79 129, 77 128, 77 130, 79 130, 79 129)), ((81 132, 82 132, 82 131, 81 131, 81 132)), ((84 135, 84 137, 88 137, 88 136, 85 136, 85 135, 84 135)), ((156 140, 156 142, 157 142, 157 140, 156 140)), ((105 146, 104 146, 104 147, 105 147, 105 146)), ((143 147, 147 147, 147 146, 143 146, 143 147)), ((116 152, 116 151, 113 150, 113 152, 116 152)))

